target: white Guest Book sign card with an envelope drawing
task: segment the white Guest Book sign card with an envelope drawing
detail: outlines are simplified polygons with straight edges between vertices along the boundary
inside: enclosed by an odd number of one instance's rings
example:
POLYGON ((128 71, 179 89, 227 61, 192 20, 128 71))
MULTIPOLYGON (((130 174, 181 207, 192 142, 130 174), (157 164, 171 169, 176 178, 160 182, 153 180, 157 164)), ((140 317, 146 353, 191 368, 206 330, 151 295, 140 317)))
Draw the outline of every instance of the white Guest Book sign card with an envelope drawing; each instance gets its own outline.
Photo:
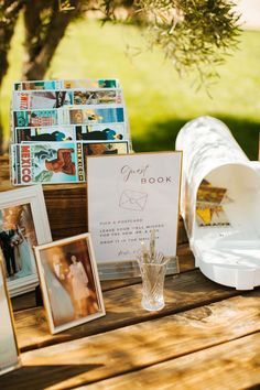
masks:
POLYGON ((88 228, 98 263, 134 260, 155 231, 156 250, 176 256, 182 152, 87 159, 88 228))

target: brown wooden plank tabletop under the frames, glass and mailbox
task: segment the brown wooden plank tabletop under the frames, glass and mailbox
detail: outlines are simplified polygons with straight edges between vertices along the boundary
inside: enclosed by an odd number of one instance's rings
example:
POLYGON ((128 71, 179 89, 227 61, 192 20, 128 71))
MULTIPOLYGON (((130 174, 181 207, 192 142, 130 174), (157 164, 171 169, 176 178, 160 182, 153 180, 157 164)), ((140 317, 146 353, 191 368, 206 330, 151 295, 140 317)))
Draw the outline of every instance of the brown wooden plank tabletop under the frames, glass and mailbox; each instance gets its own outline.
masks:
POLYGON ((13 299, 23 367, 0 389, 259 388, 260 289, 206 279, 180 224, 181 273, 166 278, 160 312, 141 307, 139 279, 102 282, 107 315, 52 336, 33 293, 13 299))

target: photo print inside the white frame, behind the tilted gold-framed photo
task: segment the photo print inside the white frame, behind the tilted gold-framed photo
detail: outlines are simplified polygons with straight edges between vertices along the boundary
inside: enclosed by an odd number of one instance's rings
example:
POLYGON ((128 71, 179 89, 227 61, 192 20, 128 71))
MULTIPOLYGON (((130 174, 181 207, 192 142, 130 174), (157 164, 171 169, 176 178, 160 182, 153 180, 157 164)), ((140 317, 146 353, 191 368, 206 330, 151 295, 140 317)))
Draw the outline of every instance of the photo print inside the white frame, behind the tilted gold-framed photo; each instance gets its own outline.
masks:
POLYGON ((29 204, 0 210, 0 246, 8 281, 21 279, 35 272, 32 247, 36 243, 29 204))

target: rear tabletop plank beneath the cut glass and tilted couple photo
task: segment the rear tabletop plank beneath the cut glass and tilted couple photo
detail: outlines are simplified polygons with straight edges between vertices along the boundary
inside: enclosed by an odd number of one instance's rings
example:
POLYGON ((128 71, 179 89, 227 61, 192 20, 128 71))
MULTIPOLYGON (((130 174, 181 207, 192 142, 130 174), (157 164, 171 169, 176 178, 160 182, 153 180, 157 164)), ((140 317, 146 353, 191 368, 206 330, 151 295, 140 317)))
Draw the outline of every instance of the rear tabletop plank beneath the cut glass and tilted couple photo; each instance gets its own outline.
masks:
POLYGON ((147 312, 141 307, 141 284, 105 292, 105 317, 56 335, 50 335, 42 307, 17 312, 18 344, 23 351, 30 350, 178 313, 238 294, 234 289, 210 282, 198 270, 185 272, 166 278, 166 304, 160 312, 147 312))

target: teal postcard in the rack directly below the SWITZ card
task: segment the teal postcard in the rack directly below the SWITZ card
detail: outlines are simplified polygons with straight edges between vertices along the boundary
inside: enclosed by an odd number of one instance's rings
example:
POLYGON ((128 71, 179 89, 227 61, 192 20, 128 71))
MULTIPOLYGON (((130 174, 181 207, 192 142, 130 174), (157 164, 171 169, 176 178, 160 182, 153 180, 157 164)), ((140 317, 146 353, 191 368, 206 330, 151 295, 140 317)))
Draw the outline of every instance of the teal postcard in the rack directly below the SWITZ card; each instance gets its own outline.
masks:
POLYGON ((13 111, 13 127, 48 127, 57 124, 57 110, 13 111))

